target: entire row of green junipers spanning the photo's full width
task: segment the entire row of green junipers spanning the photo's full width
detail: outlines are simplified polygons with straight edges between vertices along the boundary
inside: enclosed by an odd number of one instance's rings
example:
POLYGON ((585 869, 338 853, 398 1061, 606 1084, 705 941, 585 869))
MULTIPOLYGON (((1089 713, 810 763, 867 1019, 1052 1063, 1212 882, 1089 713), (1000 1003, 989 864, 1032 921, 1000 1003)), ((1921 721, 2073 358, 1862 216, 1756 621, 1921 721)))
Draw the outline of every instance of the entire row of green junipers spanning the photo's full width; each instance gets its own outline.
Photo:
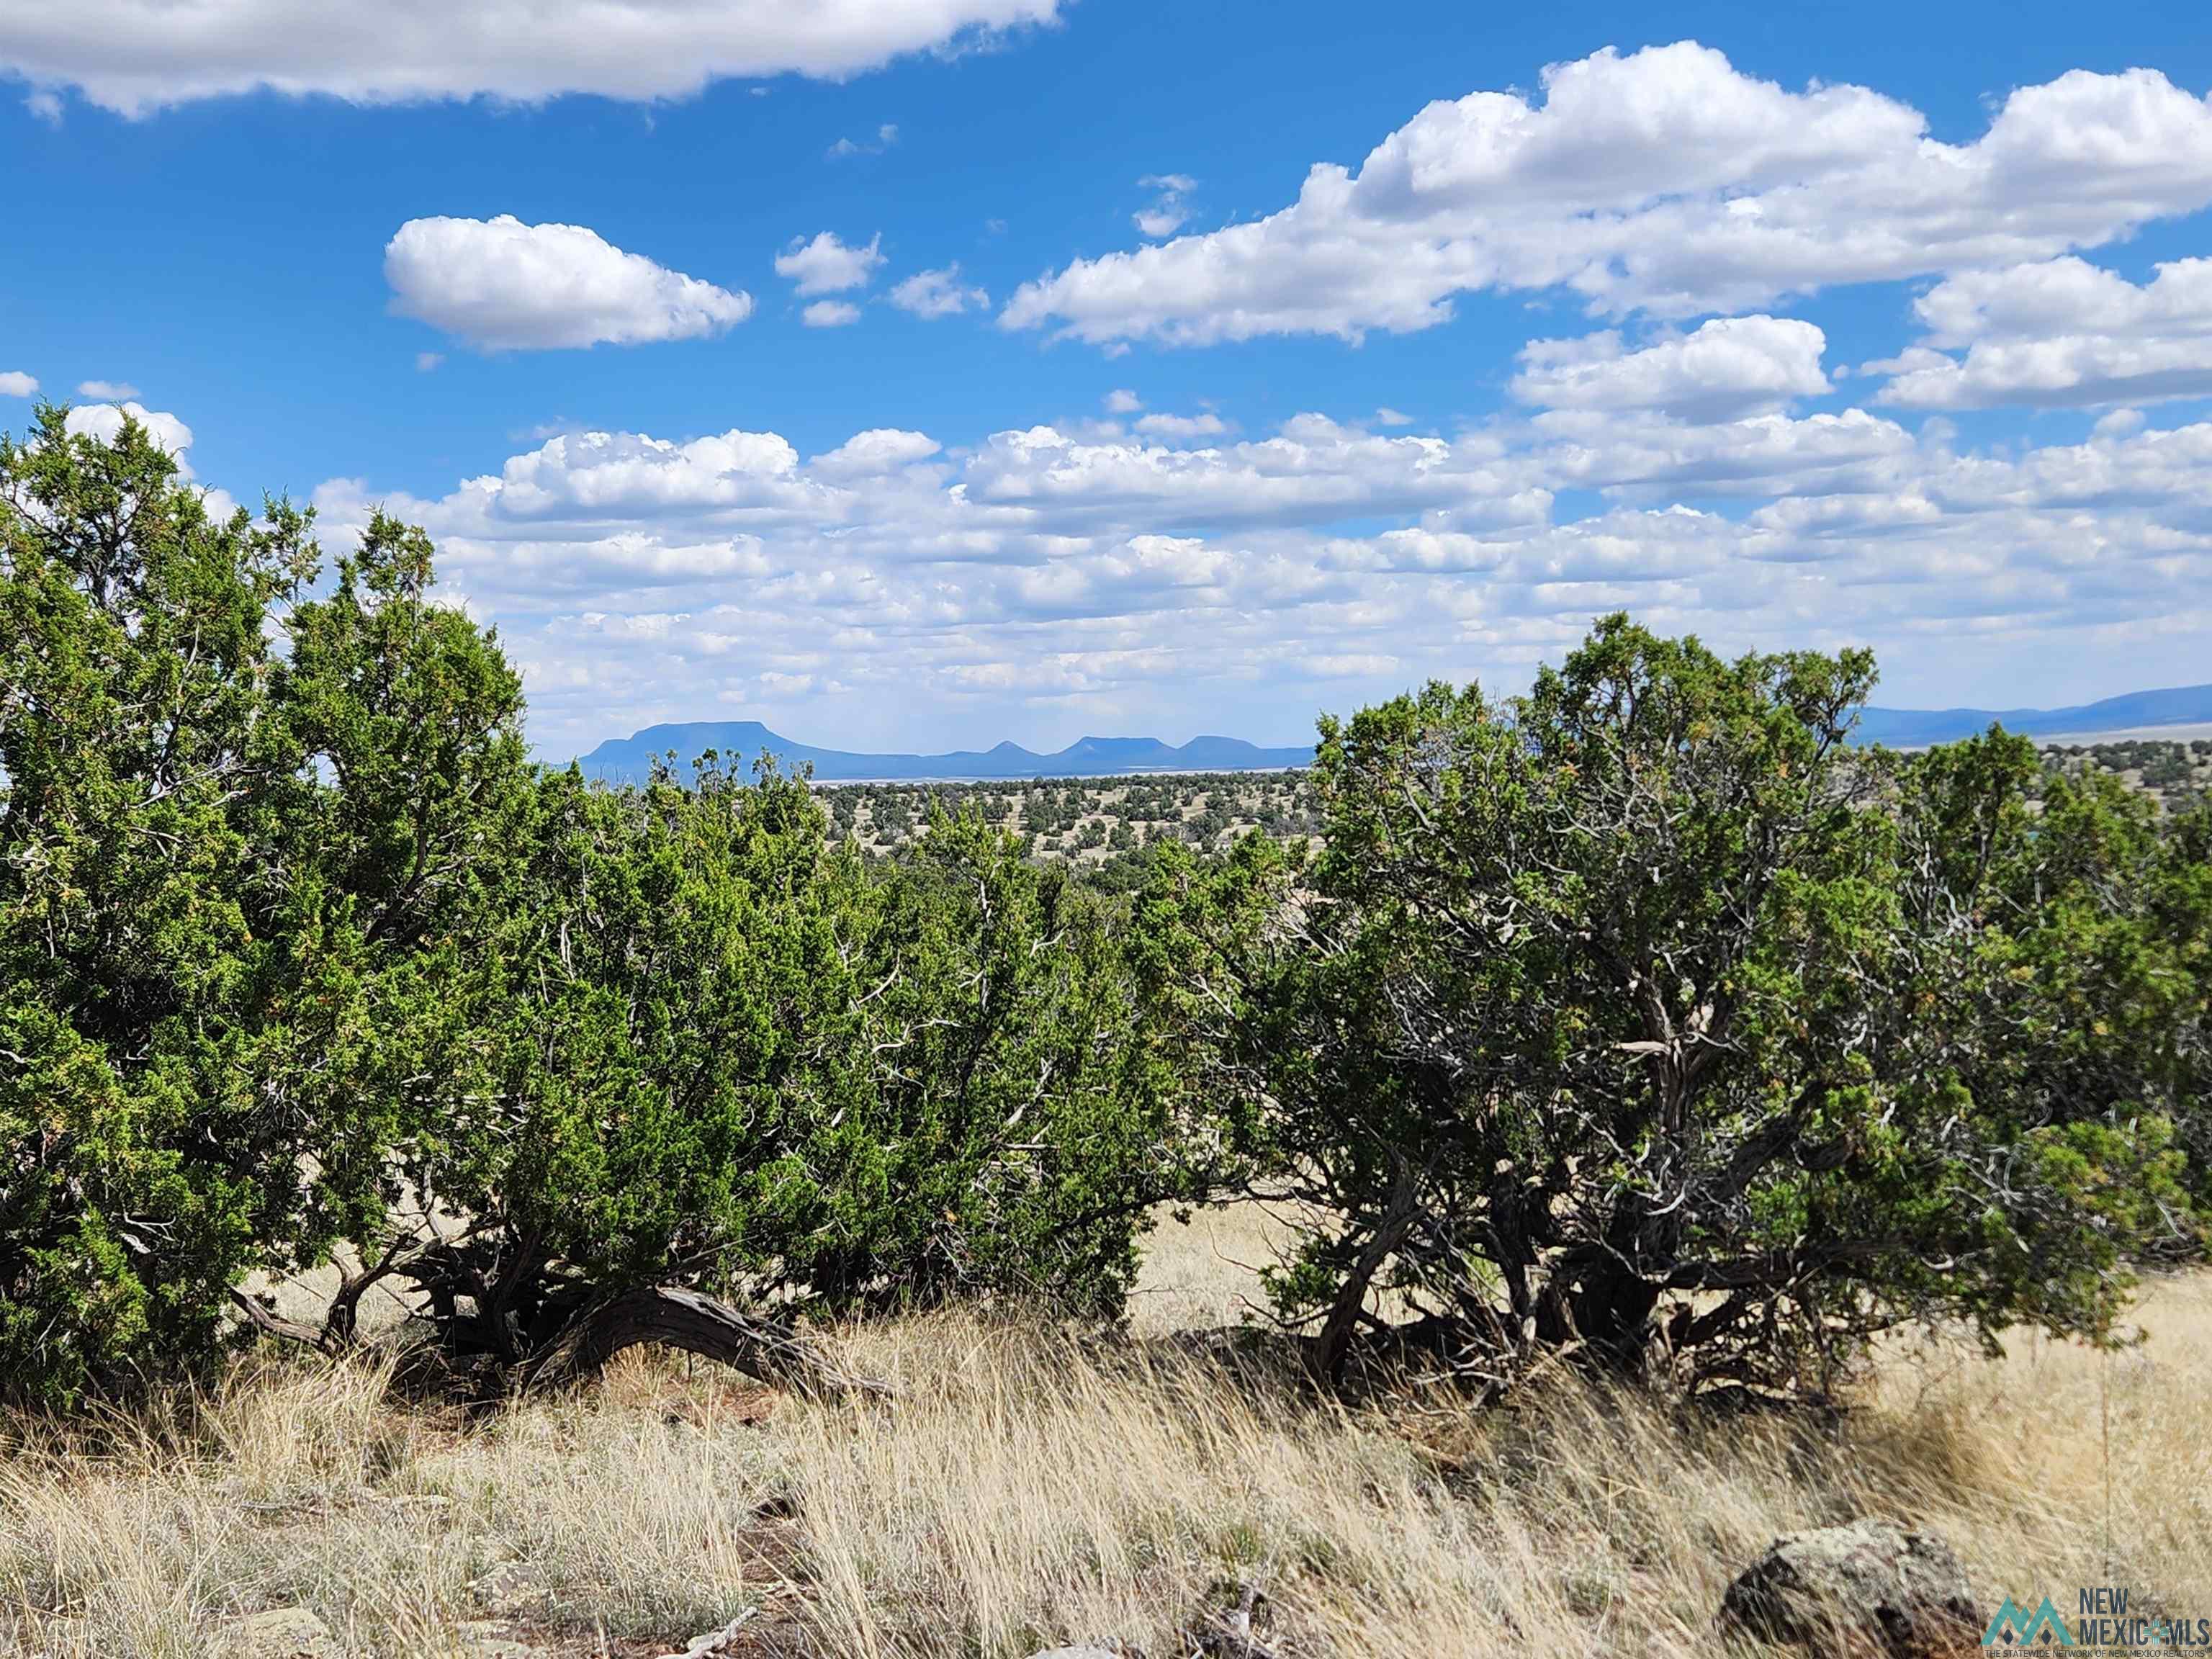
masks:
POLYGON ((1113 1318, 1159 1203, 1252 1190, 1318 1369, 1500 1385, 2108 1338, 2201 1243, 2212 807, 1854 750, 1860 653, 1613 617, 1325 721, 1318 852, 1217 801, 1099 880, 995 796, 872 854, 774 765, 533 768, 431 586, 135 422, 0 442, 0 1398, 341 1347, 380 1283, 489 1387, 668 1292, 1113 1318))

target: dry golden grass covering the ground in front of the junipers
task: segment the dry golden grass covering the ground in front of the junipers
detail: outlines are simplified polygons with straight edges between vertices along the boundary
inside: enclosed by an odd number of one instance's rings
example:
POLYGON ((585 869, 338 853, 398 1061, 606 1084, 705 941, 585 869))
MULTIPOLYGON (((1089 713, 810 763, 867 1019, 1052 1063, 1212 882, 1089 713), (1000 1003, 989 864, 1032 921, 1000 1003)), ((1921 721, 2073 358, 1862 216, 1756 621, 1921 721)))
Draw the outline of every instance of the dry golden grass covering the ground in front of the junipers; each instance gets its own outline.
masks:
MULTIPOLYGON (((1248 1243, 1170 1234, 1161 1283, 1217 1312, 1232 1290, 1172 1250, 1248 1243)), ((489 1617, 650 1655, 759 1608, 761 1655, 1159 1659, 1259 1577, 1270 1639, 1312 1659, 1705 1655, 1772 1535, 1863 1513, 1947 1533, 1989 1601, 2126 1584, 2212 1617, 2212 1279, 2141 1321, 2112 1358, 1891 1354, 1832 1433, 1686 1431, 1564 1378, 1480 1418, 1347 1411, 1168 1343, 964 1316, 854 1332, 900 1385, 869 1407, 635 1360, 471 1425, 374 1365, 263 1365, 133 1422, 18 1429, 0 1650, 11 1619, 18 1652, 215 1655, 237 1615, 301 1606, 361 1655, 460 1652, 489 1617)))

